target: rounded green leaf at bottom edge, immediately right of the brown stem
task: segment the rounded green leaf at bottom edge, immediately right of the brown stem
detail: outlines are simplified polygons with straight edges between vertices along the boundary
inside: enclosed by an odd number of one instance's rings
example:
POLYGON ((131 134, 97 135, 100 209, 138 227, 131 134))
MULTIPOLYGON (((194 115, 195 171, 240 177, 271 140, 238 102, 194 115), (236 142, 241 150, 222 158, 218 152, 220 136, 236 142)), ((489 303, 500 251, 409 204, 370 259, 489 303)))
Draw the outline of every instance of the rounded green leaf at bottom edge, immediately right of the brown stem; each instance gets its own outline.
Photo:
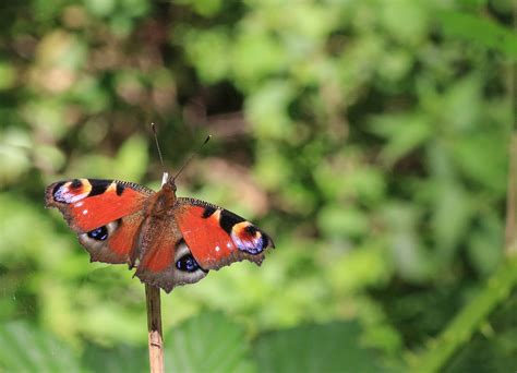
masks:
POLYGON ((241 326, 220 313, 202 313, 165 336, 170 372, 252 371, 241 326))

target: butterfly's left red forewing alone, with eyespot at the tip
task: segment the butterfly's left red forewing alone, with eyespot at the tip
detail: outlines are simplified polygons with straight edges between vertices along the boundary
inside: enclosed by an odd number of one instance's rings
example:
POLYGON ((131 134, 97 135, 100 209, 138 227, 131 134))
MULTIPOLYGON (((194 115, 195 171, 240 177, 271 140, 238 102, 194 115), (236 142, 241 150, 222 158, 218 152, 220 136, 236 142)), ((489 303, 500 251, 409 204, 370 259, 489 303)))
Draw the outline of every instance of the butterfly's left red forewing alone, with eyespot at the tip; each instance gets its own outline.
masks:
POLYGON ((123 181, 74 179, 49 185, 45 201, 47 207, 59 208, 73 230, 84 233, 143 209, 153 193, 123 181))

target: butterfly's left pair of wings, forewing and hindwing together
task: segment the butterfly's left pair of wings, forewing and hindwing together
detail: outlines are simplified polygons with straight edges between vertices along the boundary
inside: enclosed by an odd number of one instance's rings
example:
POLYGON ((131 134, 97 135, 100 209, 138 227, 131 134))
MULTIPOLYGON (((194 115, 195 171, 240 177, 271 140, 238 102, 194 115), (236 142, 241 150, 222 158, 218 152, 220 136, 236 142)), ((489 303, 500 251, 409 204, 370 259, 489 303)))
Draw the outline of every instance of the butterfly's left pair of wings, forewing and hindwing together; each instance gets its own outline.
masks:
POLYGON ((47 186, 47 207, 58 208, 92 261, 133 264, 130 254, 154 192, 116 180, 74 179, 47 186))

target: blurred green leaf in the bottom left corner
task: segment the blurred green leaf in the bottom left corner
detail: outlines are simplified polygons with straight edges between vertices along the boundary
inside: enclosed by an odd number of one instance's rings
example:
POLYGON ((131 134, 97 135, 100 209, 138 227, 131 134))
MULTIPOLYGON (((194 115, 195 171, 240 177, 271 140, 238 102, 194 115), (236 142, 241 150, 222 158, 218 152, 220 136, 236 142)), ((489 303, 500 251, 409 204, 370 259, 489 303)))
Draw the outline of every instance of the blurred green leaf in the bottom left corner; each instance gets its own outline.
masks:
POLYGON ((71 349, 26 322, 0 326, 0 371, 79 372, 71 349))

